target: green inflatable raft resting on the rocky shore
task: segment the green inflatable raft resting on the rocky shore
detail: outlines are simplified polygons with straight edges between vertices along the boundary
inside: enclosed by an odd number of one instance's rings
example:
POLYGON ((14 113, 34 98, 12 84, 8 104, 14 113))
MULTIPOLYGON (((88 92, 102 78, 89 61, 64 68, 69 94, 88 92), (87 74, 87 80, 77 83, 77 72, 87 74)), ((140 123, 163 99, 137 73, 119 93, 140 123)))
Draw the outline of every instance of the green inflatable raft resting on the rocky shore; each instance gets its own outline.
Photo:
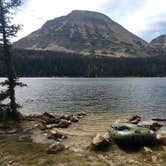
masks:
POLYGON ((122 145, 150 145, 156 140, 154 131, 130 123, 121 123, 110 128, 112 139, 122 145))

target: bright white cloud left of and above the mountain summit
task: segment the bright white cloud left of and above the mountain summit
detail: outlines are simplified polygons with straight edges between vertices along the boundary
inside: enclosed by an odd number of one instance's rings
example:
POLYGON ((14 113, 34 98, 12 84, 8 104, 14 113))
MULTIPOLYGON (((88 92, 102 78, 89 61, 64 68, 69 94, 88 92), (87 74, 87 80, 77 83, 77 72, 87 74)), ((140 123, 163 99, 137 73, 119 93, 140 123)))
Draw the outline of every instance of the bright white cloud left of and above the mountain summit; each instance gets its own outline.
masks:
MULTIPOLYGON (((14 22, 22 24, 18 38, 40 28, 49 19, 66 15, 72 10, 97 10, 108 0, 27 0, 18 10, 14 22)), ((18 39, 16 38, 16 39, 18 39)), ((15 39, 15 40, 16 40, 15 39)))

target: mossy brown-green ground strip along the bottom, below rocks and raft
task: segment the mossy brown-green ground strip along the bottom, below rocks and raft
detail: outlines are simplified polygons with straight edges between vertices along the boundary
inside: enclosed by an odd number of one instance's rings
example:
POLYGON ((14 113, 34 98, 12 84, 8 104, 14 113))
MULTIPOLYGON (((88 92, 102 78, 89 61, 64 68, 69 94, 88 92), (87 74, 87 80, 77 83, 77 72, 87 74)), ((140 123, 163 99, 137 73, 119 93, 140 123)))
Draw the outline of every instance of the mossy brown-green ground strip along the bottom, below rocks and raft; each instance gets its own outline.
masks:
MULTIPOLYGON (((12 163, 23 166, 45 166, 66 164, 66 166, 107 166, 111 162, 115 165, 139 165, 138 163, 152 164, 151 156, 157 156, 157 162, 166 164, 166 150, 162 147, 153 149, 153 154, 140 152, 127 153, 113 145, 109 151, 94 152, 84 150, 83 152, 73 152, 69 149, 58 154, 47 154, 49 144, 36 144, 31 142, 19 142, 17 135, 0 136, 0 165, 6 166, 12 163), (132 163, 130 163, 132 162, 132 163)), ((13 164, 14 165, 14 164, 13 164)))

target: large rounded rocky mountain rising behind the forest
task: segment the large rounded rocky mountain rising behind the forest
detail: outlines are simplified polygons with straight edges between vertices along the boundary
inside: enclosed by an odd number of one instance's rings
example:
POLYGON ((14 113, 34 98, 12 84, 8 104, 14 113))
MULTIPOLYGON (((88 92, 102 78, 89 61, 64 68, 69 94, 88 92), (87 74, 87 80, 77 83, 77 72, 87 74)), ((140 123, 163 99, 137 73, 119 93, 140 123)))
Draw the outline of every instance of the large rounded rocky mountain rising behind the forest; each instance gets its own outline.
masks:
POLYGON ((79 10, 47 21, 39 30, 15 42, 14 47, 115 57, 145 57, 159 52, 108 16, 79 10))

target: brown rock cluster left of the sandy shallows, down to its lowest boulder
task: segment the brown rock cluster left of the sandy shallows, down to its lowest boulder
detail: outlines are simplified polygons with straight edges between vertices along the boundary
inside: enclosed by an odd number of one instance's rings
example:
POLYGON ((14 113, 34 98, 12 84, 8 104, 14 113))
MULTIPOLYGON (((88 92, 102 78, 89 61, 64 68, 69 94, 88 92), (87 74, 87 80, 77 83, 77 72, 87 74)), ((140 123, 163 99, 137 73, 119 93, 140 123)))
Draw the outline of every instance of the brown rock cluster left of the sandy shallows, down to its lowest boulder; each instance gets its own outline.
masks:
MULTIPOLYGON (((54 143, 51 144, 47 150, 48 154, 56 154, 65 150, 65 146, 61 141, 66 139, 67 135, 58 131, 57 128, 68 128, 72 123, 79 122, 85 115, 84 112, 75 115, 53 115, 45 112, 40 117, 37 117, 40 121, 40 124, 37 127, 47 132, 47 139, 54 140, 54 143)), ((32 120, 32 118, 30 120, 32 120)))

